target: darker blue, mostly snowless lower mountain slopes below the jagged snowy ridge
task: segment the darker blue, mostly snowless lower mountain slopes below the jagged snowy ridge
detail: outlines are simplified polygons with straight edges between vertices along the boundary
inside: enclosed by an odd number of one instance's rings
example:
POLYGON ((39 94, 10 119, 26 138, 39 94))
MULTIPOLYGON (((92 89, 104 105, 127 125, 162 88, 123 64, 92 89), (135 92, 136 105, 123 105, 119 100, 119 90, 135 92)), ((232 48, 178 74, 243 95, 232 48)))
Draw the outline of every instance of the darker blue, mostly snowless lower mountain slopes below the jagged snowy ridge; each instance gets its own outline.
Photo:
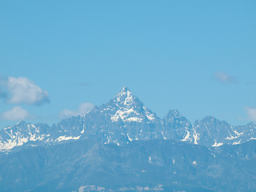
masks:
POLYGON ((0 188, 1 191, 254 191, 255 149, 256 141, 206 148, 171 140, 134 141, 126 146, 73 140, 0 154, 0 188))

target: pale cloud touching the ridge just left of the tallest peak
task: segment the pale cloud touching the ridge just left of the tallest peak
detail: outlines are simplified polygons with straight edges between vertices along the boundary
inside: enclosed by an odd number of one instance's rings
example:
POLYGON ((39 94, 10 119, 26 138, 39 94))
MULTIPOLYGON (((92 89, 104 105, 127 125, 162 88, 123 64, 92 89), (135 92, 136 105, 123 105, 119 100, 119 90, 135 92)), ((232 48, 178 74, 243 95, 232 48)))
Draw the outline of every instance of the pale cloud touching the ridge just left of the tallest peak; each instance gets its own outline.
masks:
POLYGON ((62 110, 60 113, 61 118, 68 118, 71 116, 78 116, 82 114, 86 114, 87 111, 93 110, 94 109, 94 104, 90 102, 83 102, 79 107, 78 110, 62 110))

